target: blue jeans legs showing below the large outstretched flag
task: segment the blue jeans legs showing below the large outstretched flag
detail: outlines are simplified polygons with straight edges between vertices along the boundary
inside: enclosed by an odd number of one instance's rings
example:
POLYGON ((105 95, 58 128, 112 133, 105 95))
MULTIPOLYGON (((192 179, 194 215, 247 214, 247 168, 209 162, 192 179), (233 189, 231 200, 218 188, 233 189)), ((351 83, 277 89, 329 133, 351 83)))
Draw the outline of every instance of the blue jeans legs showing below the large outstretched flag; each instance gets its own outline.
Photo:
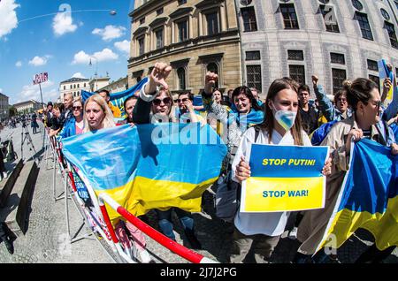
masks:
POLYGON ((174 210, 179 217, 184 231, 193 232, 194 219, 187 211, 178 208, 171 208, 166 211, 161 211, 157 209, 157 219, 159 222, 160 230, 163 232, 163 234, 165 234, 165 236, 167 236, 168 238, 175 240, 175 235, 172 232, 172 210, 174 210))

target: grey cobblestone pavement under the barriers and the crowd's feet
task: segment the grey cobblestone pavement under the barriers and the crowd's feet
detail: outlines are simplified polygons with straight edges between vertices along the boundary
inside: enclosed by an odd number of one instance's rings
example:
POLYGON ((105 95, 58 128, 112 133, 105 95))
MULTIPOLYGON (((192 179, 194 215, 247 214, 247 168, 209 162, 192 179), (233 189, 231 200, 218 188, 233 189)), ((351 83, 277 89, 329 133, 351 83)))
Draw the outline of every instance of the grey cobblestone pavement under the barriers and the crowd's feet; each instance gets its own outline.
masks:
MULTIPOLYGON (((30 130, 30 128, 29 128, 30 130)), ((20 153, 20 131, 18 127, 14 129, 13 141, 14 149, 20 153)), ((12 131, 4 129, 0 136, 4 141, 5 136, 12 131)), ((42 148, 42 134, 30 134, 34 140, 36 150, 42 148)), ((10 164, 9 164, 10 165, 10 164)), ((50 164, 49 164, 50 166, 50 164)), ((57 195, 62 194, 63 183, 57 174, 57 195)), ((108 247, 104 239, 100 242, 93 237, 81 239, 72 245, 68 242, 68 235, 65 225, 65 201, 54 202, 52 198, 52 170, 47 170, 45 160, 40 164, 39 176, 34 189, 32 201, 32 212, 29 216, 29 226, 27 234, 19 237, 14 242, 15 253, 8 254, 4 243, 0 244, 0 263, 3 262, 114 262, 109 254, 108 247), (105 249, 108 249, 106 251, 105 249)), ((83 225, 79 213, 70 201, 70 221, 71 232, 81 234, 87 232, 83 225), (82 227, 81 227, 82 226, 82 227), (81 227, 81 230, 80 230, 81 227), (80 232, 79 232, 80 230, 80 232)), ((202 244, 203 249, 197 252, 218 262, 227 262, 229 250, 232 246, 233 225, 226 224, 219 220, 214 214, 213 195, 206 191, 203 194, 203 212, 193 214, 195 219, 196 236, 202 244)), ((291 216, 287 224, 287 229, 292 227, 294 216, 291 216)), ((157 216, 151 211, 147 214, 148 224, 158 230, 157 216)), ((180 222, 173 216, 173 224, 176 239, 186 247, 190 247, 186 241, 180 222)), ((290 262, 295 255, 299 242, 286 237, 285 232, 279 241, 272 262, 290 262)), ((156 262, 187 262, 165 247, 159 246, 155 241, 147 237, 147 249, 152 254, 156 262)), ((364 249, 371 245, 372 239, 368 232, 356 232, 352 238, 338 250, 341 262, 354 262, 364 249)), ((113 255, 114 256, 114 255, 113 255)), ((253 254, 249 253, 245 262, 254 262, 253 254)), ((395 248, 385 262, 398 263, 398 250, 395 248)))

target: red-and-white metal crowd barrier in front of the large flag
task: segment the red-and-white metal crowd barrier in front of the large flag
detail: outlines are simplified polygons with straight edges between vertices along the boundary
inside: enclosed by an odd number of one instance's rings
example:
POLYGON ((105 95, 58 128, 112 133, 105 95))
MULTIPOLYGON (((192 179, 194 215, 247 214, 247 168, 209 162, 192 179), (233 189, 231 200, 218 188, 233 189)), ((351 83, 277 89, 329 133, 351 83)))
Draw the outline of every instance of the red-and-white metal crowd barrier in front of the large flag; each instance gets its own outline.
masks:
MULTIPOLYGON (((96 196, 96 193, 88 179, 79 171, 78 169, 74 169, 73 165, 67 161, 67 159, 63 158, 62 151, 55 140, 55 138, 48 138, 49 148, 52 150, 54 166, 53 166, 53 193, 54 200, 58 201, 60 199, 65 199, 65 222, 67 233, 69 235, 70 242, 73 243, 80 239, 88 238, 88 236, 97 232, 99 235, 105 239, 107 244, 111 247, 112 251, 115 254, 119 254, 119 257, 126 262, 136 263, 131 253, 131 249, 124 249, 119 242, 119 239, 113 229, 111 224, 111 220, 108 215, 108 211, 104 206, 104 202, 106 202, 112 209, 115 209, 120 216, 123 216, 128 222, 134 224, 140 231, 148 235, 151 239, 154 239, 162 245, 163 247, 168 248, 175 254, 179 254, 184 259, 188 260, 188 262, 195 263, 217 263, 209 258, 204 257, 202 254, 198 254, 195 251, 188 249, 180 245, 179 243, 173 241, 172 239, 167 238, 164 234, 157 232, 155 229, 150 227, 148 224, 143 223, 139 218, 129 213, 126 209, 119 205, 118 202, 114 201, 108 194, 100 194, 99 197, 96 196), (64 163, 66 163, 67 168, 64 169, 64 163), (64 180, 65 184, 65 193, 64 196, 56 197, 56 173, 57 169, 59 169, 61 176, 64 180), (84 186, 86 186, 88 190, 89 197, 93 203, 93 209, 88 209, 85 206, 85 203, 81 200, 76 184, 75 178, 73 176, 74 173, 80 178, 84 186), (92 231, 86 233, 80 237, 72 237, 70 231, 70 223, 69 223, 69 207, 68 207, 68 199, 73 199, 73 203, 80 213, 80 216, 83 219, 84 224, 88 226, 92 231), (84 214, 84 216, 81 214, 84 214), (89 223, 88 223, 89 221, 89 223), (91 225, 90 225, 91 224, 91 225)), ((48 148, 47 148, 48 149, 48 148)))

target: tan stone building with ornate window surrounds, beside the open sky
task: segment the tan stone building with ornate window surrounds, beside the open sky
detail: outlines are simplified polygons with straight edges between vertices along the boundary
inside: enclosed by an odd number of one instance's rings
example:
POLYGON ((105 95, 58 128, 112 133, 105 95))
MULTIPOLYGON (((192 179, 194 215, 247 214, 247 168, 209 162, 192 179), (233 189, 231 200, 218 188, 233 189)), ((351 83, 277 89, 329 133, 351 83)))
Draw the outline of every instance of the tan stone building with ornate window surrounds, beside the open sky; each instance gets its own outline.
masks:
POLYGON ((149 75, 156 62, 172 65, 173 93, 198 94, 207 71, 218 87, 241 84, 241 50, 233 0, 136 0, 128 60, 128 85, 149 75))

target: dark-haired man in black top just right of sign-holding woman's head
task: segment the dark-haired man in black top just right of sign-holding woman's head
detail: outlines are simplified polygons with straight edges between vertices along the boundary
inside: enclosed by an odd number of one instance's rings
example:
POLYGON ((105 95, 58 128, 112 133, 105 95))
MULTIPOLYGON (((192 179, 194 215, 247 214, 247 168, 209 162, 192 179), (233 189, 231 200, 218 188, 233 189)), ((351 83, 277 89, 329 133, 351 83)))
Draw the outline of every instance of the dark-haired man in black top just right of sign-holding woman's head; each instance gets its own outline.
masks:
POLYGON ((318 127, 318 112, 310 106, 310 87, 302 85, 298 89, 300 100, 300 114, 302 116, 302 128, 310 135, 318 127))

